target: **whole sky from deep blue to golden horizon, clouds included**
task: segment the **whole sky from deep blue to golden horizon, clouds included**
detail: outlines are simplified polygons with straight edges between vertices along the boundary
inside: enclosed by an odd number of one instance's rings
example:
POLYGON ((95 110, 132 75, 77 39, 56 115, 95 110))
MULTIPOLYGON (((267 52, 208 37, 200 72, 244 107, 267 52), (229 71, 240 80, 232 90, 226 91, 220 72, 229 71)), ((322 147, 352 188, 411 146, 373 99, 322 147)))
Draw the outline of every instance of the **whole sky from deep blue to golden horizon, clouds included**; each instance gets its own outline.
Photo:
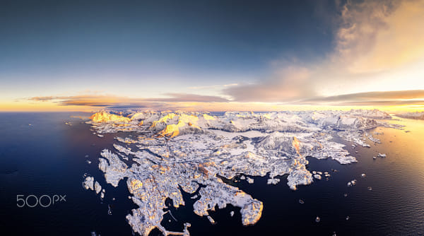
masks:
POLYGON ((0 1, 0 111, 424 110, 424 0, 0 1))

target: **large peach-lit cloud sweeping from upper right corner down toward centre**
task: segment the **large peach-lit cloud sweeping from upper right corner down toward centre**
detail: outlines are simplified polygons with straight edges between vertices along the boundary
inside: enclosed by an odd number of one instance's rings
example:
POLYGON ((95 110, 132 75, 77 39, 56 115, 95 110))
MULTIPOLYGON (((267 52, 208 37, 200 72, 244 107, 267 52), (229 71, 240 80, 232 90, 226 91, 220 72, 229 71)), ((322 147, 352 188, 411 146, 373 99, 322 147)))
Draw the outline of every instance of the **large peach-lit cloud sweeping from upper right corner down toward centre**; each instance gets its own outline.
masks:
POLYGON ((361 91, 424 88, 423 0, 346 1, 338 7, 340 15, 331 17, 334 48, 322 60, 273 60, 267 75, 223 88, 223 94, 238 102, 295 103, 361 91))

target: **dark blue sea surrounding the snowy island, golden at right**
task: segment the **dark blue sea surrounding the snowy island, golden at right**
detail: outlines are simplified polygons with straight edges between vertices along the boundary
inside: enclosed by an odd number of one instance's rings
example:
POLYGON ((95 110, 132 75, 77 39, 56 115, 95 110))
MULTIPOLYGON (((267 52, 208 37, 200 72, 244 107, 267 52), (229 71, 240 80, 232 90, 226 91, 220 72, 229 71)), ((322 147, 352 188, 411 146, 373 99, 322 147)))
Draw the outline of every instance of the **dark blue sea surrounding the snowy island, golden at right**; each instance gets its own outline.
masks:
MULTIPOLYGON (((136 205, 127 198, 126 184, 114 188, 98 170, 100 151, 112 148, 116 134, 99 138, 90 125, 71 118, 88 115, 0 113, 0 235, 133 235, 125 216, 136 205), (105 199, 83 189, 85 173, 106 189, 105 199), (35 198, 29 197, 34 207, 17 206, 17 196, 30 195, 66 195, 66 201, 42 207, 34 206, 35 198), (108 206, 112 215, 107 213, 108 206)), ((232 206, 211 212, 216 220, 211 225, 192 212, 195 200, 188 194, 184 194, 186 206, 172 208, 178 221, 166 214, 163 225, 179 230, 189 222, 191 235, 424 235, 424 122, 396 119, 393 122, 406 125, 405 130, 373 130, 384 132, 378 136, 382 144, 352 150, 352 143, 346 143, 358 163, 340 165, 308 158, 308 169, 330 172, 329 180, 300 186, 297 191, 288 188, 285 176, 277 185, 267 185, 266 177, 254 177, 254 184, 228 180, 264 202, 256 225, 242 226, 239 209, 232 206), (377 153, 386 153, 387 158, 372 159, 377 153), (347 187, 352 179, 358 183, 347 187), (230 211, 235 211, 233 217, 230 211)), ((42 199, 44 205, 49 203, 47 196, 42 199)), ((154 230, 151 235, 160 232, 154 230)))

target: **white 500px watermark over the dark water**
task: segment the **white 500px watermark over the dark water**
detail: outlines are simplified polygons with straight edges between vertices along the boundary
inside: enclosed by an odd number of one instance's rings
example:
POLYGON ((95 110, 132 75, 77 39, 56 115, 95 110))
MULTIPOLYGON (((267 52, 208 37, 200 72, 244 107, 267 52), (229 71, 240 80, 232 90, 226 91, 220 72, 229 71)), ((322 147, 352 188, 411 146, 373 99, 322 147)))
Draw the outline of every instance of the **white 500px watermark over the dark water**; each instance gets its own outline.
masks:
POLYGON ((28 206, 32 208, 39 205, 41 207, 49 207, 62 201, 66 201, 66 195, 42 195, 40 197, 33 194, 26 197, 25 195, 16 195, 16 206, 18 207, 28 206))

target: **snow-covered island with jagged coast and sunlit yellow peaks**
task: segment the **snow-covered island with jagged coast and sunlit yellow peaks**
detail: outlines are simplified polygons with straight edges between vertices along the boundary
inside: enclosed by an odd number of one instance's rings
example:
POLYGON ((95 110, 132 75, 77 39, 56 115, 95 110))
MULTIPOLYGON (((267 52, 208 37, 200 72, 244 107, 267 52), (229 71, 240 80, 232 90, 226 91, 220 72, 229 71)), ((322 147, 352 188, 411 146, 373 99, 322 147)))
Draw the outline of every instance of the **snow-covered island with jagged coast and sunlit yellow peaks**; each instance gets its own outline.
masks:
MULTIPOLYGON (((314 177, 321 179, 307 170, 307 157, 355 163, 347 151, 350 148, 334 137, 368 147, 363 138, 368 129, 401 128, 381 120, 390 118, 379 110, 226 112, 221 116, 104 111, 93 114, 89 123, 97 134, 132 132, 126 138, 116 137, 113 150, 102 151, 99 168, 114 187, 126 178, 131 199, 139 206, 126 216, 134 232, 148 235, 158 228, 164 235, 189 235, 189 223, 183 232, 170 232, 160 224, 168 213, 166 199, 177 208, 185 204, 182 191, 198 194, 194 213, 213 223, 208 211, 227 204, 238 206, 242 224, 252 225, 261 218, 264 203, 225 184, 224 178, 242 175, 253 183, 252 177, 269 175, 269 184, 277 184, 276 177, 288 175, 288 187, 295 190, 311 184, 314 177)), ((93 179, 86 179, 84 186, 93 189, 93 179)))

